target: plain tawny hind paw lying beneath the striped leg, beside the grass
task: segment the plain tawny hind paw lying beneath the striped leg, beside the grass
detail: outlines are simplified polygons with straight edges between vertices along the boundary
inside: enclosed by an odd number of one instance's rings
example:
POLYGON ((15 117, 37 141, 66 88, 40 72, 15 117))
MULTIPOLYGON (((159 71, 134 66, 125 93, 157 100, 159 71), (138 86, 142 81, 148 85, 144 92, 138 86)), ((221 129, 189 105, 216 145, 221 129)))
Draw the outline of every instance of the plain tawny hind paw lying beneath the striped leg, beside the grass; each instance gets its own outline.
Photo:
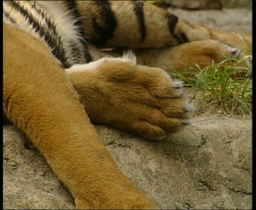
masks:
MULTIPOLYGON (((201 68, 219 63, 226 58, 238 59, 242 51, 216 40, 187 42, 171 48, 135 50, 138 63, 160 67, 169 73, 188 72, 188 67, 197 63, 201 68)), ((244 59, 244 65, 250 66, 250 59, 244 59)), ((241 63, 242 65, 242 63, 241 63)), ((193 70, 199 70, 194 68, 193 70)), ((244 72, 247 74, 249 72, 244 72)), ((187 75, 189 76, 189 75, 187 75)))

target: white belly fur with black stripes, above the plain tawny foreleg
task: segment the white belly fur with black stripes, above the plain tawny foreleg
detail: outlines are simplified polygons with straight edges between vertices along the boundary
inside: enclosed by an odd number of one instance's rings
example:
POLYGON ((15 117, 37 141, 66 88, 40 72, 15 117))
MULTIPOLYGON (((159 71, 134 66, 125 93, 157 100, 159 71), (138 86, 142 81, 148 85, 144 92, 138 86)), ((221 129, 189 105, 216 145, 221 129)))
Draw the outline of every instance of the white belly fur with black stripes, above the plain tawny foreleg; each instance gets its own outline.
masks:
POLYGON ((79 14, 44 1, 4 1, 3 10, 5 23, 44 40, 62 67, 91 61, 79 14))

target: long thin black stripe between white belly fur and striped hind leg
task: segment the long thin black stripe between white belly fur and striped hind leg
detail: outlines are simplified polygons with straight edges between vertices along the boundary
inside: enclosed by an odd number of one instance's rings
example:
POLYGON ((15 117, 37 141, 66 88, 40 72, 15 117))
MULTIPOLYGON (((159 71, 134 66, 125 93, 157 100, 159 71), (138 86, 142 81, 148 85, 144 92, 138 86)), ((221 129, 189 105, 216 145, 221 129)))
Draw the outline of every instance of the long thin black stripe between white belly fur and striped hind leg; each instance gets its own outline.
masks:
POLYGON ((85 27, 83 26, 83 22, 81 20, 81 15, 79 14, 79 10, 76 5, 76 1, 70 0, 70 1, 65 1, 65 3, 68 6, 68 10, 72 12, 72 16, 76 19, 76 22, 74 23, 74 25, 78 27, 79 35, 82 37, 81 42, 84 46, 83 52, 85 54, 85 59, 87 60, 87 62, 90 62, 92 61, 92 59, 91 59, 91 55, 89 54, 88 45, 85 39, 85 27))

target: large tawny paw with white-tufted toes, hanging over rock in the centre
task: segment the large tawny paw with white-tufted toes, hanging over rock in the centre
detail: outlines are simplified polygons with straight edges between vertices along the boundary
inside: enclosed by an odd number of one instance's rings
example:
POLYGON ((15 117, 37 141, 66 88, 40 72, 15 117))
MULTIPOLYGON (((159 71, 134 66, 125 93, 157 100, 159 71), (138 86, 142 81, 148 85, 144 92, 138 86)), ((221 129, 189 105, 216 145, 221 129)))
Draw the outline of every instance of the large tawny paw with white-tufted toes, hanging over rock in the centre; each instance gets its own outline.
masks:
POLYGON ((80 65, 67 72, 92 123, 147 139, 165 138, 188 124, 193 108, 182 82, 164 70, 137 65, 132 55, 87 65, 90 70, 80 65))

